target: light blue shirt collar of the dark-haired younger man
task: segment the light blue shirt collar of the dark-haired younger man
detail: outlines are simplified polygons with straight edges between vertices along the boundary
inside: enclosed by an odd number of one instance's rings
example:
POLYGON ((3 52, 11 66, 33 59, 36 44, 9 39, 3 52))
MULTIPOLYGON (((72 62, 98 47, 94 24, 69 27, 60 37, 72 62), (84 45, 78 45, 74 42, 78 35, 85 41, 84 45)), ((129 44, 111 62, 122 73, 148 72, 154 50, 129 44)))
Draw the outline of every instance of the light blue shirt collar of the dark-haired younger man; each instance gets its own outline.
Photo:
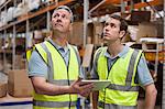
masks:
POLYGON ((123 50, 116 57, 111 57, 108 51, 106 51, 105 56, 113 59, 117 57, 124 57, 128 52, 129 52, 129 46, 124 46, 123 50))

